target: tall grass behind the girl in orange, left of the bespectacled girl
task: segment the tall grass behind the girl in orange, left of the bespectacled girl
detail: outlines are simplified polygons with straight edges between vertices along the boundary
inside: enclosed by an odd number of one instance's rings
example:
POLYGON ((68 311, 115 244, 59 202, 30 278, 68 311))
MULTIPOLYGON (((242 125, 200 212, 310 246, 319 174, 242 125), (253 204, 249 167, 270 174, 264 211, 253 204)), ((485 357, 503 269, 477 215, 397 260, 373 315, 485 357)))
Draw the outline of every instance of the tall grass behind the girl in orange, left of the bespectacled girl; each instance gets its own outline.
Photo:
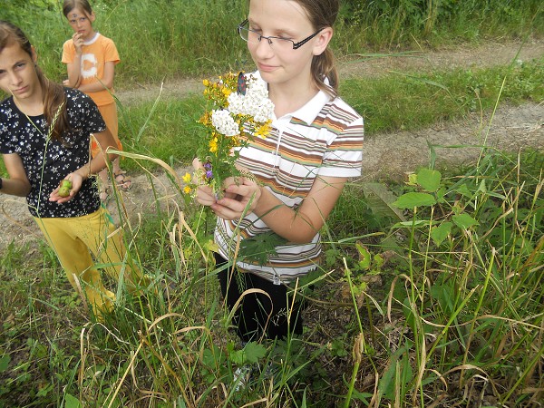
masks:
MULTIPOLYGON (((111 37, 121 55, 118 86, 240 69, 247 61, 236 33, 245 15, 243 1, 96 1, 92 7, 93 27, 111 37)), ((44 71, 55 80, 64 78, 62 47, 73 31, 62 1, 15 2, 4 13, 29 35, 44 71)))

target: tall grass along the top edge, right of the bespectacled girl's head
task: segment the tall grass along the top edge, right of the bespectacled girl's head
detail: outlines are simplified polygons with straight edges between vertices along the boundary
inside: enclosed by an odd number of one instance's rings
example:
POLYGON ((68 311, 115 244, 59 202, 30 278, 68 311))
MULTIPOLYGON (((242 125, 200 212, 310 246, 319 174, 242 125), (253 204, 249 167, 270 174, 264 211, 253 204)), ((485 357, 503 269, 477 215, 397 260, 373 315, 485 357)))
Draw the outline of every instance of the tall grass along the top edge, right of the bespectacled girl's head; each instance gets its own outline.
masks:
POLYGON ((345 24, 340 29, 351 39, 341 42, 349 45, 346 51, 353 45, 389 48, 524 38, 535 28, 541 34, 537 27, 544 11, 538 0, 346 0, 343 5, 345 24), (361 29, 363 36, 358 34, 361 29))

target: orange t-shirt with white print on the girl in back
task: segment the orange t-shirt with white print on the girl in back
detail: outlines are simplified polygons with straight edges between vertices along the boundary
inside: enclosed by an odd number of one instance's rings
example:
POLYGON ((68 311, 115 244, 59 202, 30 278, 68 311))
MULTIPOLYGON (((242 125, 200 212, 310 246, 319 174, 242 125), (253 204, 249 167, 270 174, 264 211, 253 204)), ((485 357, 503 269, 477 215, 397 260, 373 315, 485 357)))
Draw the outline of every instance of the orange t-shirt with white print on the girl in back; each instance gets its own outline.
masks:
MULTIPOLYGON (((63 44, 63 63, 73 63, 74 58, 75 46, 73 40, 70 39, 63 44)), ((83 44, 81 83, 94 83, 97 79, 102 79, 104 65, 109 62, 117 64, 120 61, 117 47, 113 41, 102 34, 96 33, 92 40, 83 44)), ((110 92, 113 93, 113 88, 86 93, 91 96, 92 101, 97 106, 103 106, 115 102, 110 92)))

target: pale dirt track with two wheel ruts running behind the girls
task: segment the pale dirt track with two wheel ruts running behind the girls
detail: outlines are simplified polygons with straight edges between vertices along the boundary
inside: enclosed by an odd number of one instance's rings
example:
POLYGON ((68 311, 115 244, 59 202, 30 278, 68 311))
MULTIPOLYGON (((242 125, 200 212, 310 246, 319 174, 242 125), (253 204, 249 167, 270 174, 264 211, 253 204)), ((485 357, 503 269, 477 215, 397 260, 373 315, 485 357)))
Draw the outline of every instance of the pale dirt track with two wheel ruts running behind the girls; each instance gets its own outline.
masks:
MULTIPOLYGON (((436 52, 417 52, 393 56, 352 56, 339 62, 342 78, 350 76, 376 76, 395 71, 422 71, 447 67, 483 67, 510 63, 514 58, 529 61, 544 56, 544 42, 524 44, 483 44, 436 52)), ((131 90, 118 90, 117 96, 123 104, 144 99, 154 100, 183 98, 190 93, 201 92, 199 80, 182 80, 163 84, 139 85, 131 90), (160 91, 162 88, 162 91, 160 91)), ((442 122, 421 131, 402 131, 391 134, 376 134, 364 143, 364 169, 361 180, 380 178, 402 178, 404 172, 428 164, 428 143, 436 148, 437 163, 442 166, 476 160, 480 149, 486 144, 500 150, 518 151, 532 147, 544 149, 544 102, 529 103, 520 107, 501 106, 492 117, 477 115, 462 121, 442 122), (453 147, 454 148, 450 148, 453 147), (463 147, 460 147, 463 146, 463 147)), ((183 169, 177 170, 180 175, 183 169)), ((154 175, 155 187, 164 194, 165 203, 175 205, 177 198, 169 189, 163 173, 154 175), (161 187, 162 186, 162 187, 161 187)), ((131 219, 149 212, 152 189, 147 175, 134 175, 133 187, 123 193, 123 205, 131 219)), ((26 209, 24 199, 0 196, 0 250, 12 240, 17 243, 41 238, 26 209)), ((110 203, 114 217, 117 209, 110 203)))

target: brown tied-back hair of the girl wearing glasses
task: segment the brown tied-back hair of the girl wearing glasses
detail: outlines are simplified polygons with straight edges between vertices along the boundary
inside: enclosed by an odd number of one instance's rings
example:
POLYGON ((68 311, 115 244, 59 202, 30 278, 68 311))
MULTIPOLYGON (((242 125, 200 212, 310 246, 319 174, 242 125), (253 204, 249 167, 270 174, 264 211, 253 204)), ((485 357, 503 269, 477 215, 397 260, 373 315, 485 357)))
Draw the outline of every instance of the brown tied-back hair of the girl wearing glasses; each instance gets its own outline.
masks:
MULTIPOLYGON (((332 27, 338 15, 338 0, 295 0, 305 9, 306 15, 314 29, 332 27)), ((317 87, 335 97, 338 94, 338 72, 335 66, 335 56, 330 48, 326 48, 320 55, 315 55, 312 60, 312 78, 317 87), (329 84, 325 84, 328 78, 329 84)))

